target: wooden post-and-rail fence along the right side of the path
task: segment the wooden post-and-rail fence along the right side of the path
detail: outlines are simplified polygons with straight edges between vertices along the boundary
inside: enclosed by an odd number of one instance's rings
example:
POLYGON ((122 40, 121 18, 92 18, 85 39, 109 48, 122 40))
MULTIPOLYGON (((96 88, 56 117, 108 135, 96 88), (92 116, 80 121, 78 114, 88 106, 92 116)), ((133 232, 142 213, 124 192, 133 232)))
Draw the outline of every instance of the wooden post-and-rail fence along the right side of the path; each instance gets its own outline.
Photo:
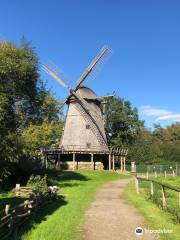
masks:
POLYGON ((180 189, 179 188, 175 188, 175 187, 169 186, 167 184, 160 183, 160 182, 158 182, 156 180, 153 180, 153 179, 148 179, 148 178, 142 178, 142 177, 135 176, 135 187, 136 187, 137 194, 140 194, 140 187, 139 187, 139 182, 140 181, 147 181, 147 182, 150 183, 149 187, 150 187, 150 194, 151 194, 151 196, 154 195, 154 184, 158 184, 161 187, 162 207, 164 209, 167 208, 167 201, 166 201, 165 190, 169 189, 169 190, 177 192, 178 193, 178 200, 177 201, 178 201, 178 206, 180 207, 180 189))

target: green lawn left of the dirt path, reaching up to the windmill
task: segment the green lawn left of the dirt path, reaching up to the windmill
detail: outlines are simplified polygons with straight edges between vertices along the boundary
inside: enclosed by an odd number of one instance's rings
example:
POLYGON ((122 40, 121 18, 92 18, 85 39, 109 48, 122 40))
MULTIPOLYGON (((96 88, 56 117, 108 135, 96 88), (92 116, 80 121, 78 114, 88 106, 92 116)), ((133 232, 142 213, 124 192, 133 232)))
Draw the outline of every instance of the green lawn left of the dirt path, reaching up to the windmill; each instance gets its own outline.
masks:
MULTIPOLYGON (((52 202, 31 216, 21 227, 18 239, 77 239, 85 210, 97 190, 108 181, 126 177, 113 172, 91 170, 48 172, 48 176, 51 184, 60 186, 60 193, 64 199, 52 202)), ((4 194, 4 197, 6 202, 8 197, 9 201, 13 201, 11 194, 7 196, 4 194)))

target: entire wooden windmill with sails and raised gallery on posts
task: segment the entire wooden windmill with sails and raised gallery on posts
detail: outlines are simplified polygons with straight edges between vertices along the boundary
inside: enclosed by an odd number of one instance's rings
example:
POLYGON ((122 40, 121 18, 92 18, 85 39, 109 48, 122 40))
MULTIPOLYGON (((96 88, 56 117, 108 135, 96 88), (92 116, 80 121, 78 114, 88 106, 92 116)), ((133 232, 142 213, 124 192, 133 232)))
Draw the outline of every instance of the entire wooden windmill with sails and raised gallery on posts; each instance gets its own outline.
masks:
POLYGON ((119 159, 121 170, 125 170, 127 149, 110 148, 105 134, 104 111, 106 98, 113 95, 97 97, 93 90, 83 83, 107 59, 111 50, 104 46, 92 60, 88 68, 71 89, 57 67, 43 65, 43 70, 69 90, 63 102, 68 105, 64 131, 58 148, 43 149, 44 164, 47 167, 48 157, 55 158, 57 169, 113 169, 115 157, 119 159))

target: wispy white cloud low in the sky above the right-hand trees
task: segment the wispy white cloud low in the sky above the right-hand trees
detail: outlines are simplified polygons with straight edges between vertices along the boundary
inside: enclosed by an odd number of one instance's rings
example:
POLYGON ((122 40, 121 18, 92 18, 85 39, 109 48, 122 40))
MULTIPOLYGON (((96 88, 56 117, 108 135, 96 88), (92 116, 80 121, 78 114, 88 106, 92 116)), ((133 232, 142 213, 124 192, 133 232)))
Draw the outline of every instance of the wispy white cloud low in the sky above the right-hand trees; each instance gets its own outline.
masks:
POLYGON ((150 105, 140 107, 142 115, 155 117, 155 121, 176 121, 180 122, 180 114, 170 112, 166 109, 155 108, 150 105))

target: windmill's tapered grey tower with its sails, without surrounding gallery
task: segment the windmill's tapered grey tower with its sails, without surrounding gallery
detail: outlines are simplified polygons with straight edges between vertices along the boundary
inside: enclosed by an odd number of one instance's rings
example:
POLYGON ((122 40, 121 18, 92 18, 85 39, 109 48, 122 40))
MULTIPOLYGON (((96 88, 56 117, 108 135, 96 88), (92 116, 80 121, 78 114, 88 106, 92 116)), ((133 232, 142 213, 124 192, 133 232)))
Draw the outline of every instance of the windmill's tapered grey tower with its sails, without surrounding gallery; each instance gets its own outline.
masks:
MULTIPOLYGON (((67 104, 68 110, 59 149, 61 151, 60 155, 65 153, 73 154, 72 168, 74 168, 74 154, 76 154, 76 157, 77 155, 84 155, 84 160, 85 155, 91 154, 90 167, 92 168, 92 154, 102 155, 109 153, 101 102, 104 101, 104 98, 112 97, 112 95, 97 97, 93 90, 82 84, 87 77, 91 76, 104 63, 110 52, 107 46, 101 49, 79 78, 74 89, 71 89, 64 79, 57 75, 54 69, 52 70, 49 66, 43 65, 43 69, 51 77, 69 90, 69 95, 62 104, 62 106, 67 104)), ((71 168, 70 165, 72 164, 69 163, 68 168, 71 168)), ((81 165, 83 166, 83 163, 81 165)), ((84 165, 87 166, 88 164, 84 165)), ((99 163, 100 165, 100 168, 103 168, 102 163, 99 163)))

